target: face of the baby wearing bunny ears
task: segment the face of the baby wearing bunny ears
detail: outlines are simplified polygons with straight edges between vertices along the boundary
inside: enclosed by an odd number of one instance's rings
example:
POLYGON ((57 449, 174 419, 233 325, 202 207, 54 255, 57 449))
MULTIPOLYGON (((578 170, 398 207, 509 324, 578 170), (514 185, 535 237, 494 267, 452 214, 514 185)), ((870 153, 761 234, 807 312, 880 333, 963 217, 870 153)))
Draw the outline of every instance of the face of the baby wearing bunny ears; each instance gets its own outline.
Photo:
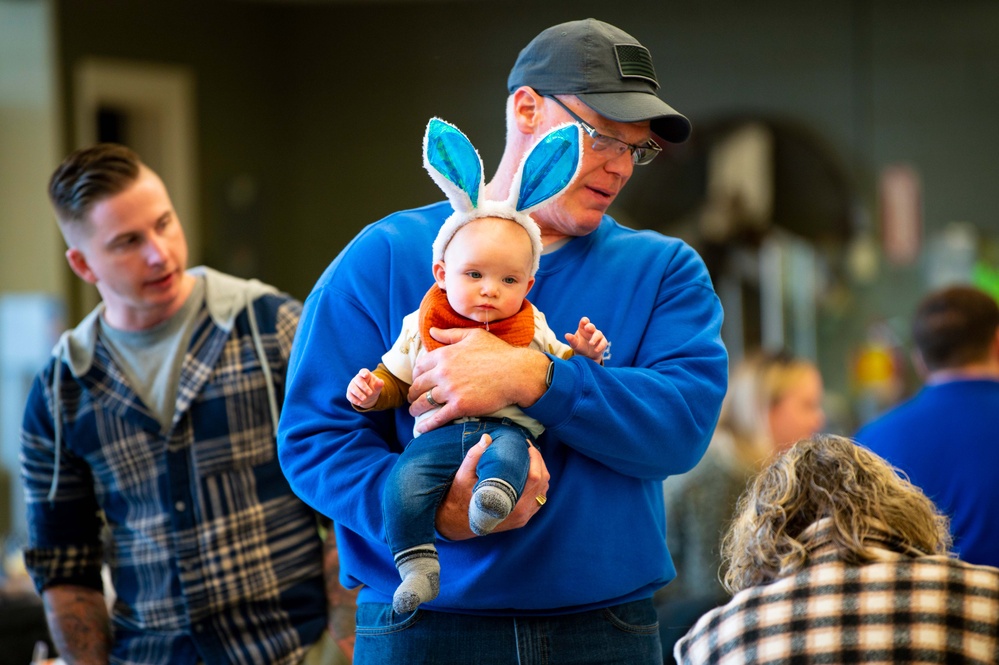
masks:
POLYGON ((532 264, 531 239, 522 226, 484 217, 454 234, 434 277, 456 312, 489 323, 520 311, 534 286, 532 264))

